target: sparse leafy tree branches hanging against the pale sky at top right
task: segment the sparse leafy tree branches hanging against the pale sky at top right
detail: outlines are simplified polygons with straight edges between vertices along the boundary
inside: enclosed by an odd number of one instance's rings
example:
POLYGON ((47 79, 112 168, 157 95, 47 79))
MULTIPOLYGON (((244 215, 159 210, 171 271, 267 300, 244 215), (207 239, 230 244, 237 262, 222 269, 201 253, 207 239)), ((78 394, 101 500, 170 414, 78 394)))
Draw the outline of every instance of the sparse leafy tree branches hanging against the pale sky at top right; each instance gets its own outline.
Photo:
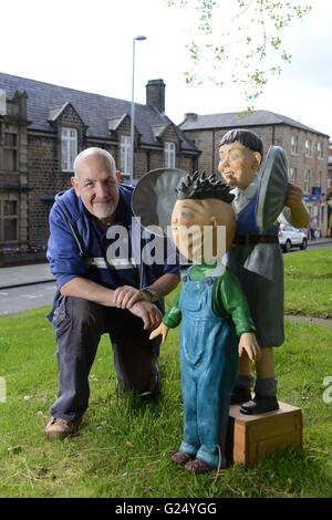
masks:
POLYGON ((188 84, 208 80, 217 85, 234 84, 248 110, 262 94, 269 79, 291 61, 283 49, 281 32, 311 10, 292 0, 165 0, 176 9, 196 12, 195 37, 188 43, 188 84))

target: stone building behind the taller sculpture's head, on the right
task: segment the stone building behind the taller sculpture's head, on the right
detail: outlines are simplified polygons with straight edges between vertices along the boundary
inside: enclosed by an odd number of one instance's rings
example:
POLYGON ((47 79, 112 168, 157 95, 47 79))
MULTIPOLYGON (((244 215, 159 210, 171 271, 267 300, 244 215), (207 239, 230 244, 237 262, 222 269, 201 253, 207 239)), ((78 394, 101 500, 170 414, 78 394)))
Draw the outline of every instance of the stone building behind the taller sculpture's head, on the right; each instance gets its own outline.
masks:
POLYGON ((290 180, 303 190, 312 222, 322 235, 328 235, 328 135, 268 111, 210 115, 189 113, 179 127, 201 152, 198 167, 207 171, 217 170, 218 143, 229 129, 255 132, 262 139, 266 153, 271 145, 282 146, 289 159, 290 180))

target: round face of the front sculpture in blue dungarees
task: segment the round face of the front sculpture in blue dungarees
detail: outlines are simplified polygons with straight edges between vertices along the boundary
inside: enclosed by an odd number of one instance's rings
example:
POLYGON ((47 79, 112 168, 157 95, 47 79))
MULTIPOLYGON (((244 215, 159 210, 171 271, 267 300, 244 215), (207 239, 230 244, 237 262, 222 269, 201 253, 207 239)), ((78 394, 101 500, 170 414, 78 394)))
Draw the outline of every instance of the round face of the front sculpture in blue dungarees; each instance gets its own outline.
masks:
POLYGON ((173 240, 194 263, 214 263, 228 251, 235 227, 234 209, 222 200, 177 200, 172 214, 173 240))

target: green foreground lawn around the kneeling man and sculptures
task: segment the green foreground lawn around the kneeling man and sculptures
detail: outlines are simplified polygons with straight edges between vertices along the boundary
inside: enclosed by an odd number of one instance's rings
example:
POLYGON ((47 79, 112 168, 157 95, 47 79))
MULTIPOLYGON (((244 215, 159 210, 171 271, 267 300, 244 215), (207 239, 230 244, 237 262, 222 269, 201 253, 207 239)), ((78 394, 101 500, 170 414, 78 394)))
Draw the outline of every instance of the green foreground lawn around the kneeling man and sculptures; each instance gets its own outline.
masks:
MULTIPOLYGON (((294 254, 297 257, 297 254, 294 254)), ((108 339, 91 375, 91 403, 80 435, 48 441, 43 427, 58 391, 54 337, 45 310, 0 319, 1 497, 330 497, 332 404, 322 401, 332 375, 332 330, 287 322, 277 350, 279 398, 301 406, 303 450, 284 450, 252 468, 235 465, 218 477, 188 475, 169 454, 181 437, 178 331, 160 355, 163 393, 155 404, 118 397, 108 339)))

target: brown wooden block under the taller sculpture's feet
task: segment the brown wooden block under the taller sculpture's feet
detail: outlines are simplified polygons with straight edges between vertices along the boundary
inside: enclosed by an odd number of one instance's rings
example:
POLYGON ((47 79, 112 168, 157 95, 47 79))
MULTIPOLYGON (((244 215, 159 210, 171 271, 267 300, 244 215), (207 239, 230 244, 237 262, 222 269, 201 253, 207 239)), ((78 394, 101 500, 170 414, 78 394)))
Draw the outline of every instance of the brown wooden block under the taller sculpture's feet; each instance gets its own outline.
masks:
POLYGON ((245 415, 239 406, 231 406, 228 457, 251 466, 277 449, 302 447, 301 408, 280 402, 279 406, 261 415, 245 415))

